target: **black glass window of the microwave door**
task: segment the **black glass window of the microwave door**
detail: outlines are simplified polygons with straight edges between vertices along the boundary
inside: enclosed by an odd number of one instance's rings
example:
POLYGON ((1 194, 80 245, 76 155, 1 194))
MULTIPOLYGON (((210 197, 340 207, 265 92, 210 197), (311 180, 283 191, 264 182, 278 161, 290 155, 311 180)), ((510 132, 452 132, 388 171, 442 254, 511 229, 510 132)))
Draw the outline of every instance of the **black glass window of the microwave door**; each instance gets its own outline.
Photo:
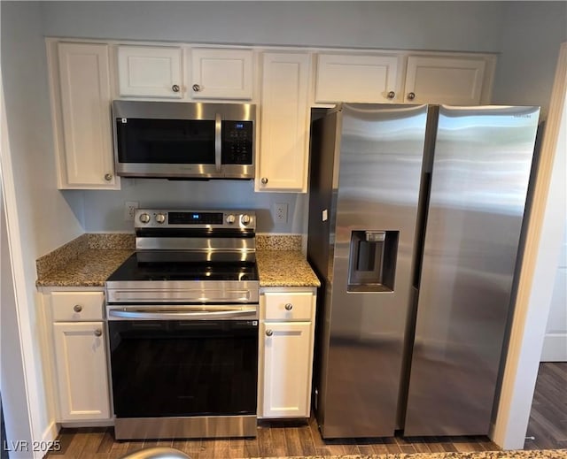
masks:
POLYGON ((214 164, 214 120, 116 119, 120 163, 214 164))

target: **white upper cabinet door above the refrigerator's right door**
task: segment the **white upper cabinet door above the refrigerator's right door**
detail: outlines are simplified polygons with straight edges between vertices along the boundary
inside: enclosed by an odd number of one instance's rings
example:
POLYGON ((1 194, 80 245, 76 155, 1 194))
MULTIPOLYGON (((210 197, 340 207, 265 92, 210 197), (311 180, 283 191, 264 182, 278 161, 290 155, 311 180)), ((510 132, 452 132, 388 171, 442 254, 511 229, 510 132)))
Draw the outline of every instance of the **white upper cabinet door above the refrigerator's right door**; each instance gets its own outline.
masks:
POLYGON ((478 105, 485 80, 485 59, 408 57, 404 102, 478 105))

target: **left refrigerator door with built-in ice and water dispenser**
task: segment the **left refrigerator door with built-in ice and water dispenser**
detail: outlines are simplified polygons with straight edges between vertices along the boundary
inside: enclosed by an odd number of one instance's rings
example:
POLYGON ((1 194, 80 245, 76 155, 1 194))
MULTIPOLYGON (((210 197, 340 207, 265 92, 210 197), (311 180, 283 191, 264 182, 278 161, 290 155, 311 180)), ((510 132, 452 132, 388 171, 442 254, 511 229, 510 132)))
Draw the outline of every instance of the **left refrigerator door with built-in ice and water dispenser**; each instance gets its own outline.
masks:
POLYGON ((427 106, 345 103, 324 122, 331 127, 319 131, 337 132, 339 142, 314 142, 329 146, 313 157, 322 168, 334 164, 334 180, 314 178, 312 185, 324 182, 332 190, 310 190, 310 240, 327 234, 322 239, 332 241, 332 249, 312 257, 318 272, 330 271, 317 312, 324 317, 317 417, 324 438, 392 436, 427 106), (321 261, 322 253, 330 259, 321 261))

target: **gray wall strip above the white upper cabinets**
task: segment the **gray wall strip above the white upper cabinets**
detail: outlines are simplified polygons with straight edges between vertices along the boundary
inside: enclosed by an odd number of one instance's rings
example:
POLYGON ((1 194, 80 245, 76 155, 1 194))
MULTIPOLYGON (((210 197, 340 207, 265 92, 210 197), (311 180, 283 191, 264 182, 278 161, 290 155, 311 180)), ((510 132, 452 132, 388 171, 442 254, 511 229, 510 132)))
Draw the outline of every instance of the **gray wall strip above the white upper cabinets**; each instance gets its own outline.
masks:
POLYGON ((496 51, 497 2, 43 2, 47 35, 496 51))

